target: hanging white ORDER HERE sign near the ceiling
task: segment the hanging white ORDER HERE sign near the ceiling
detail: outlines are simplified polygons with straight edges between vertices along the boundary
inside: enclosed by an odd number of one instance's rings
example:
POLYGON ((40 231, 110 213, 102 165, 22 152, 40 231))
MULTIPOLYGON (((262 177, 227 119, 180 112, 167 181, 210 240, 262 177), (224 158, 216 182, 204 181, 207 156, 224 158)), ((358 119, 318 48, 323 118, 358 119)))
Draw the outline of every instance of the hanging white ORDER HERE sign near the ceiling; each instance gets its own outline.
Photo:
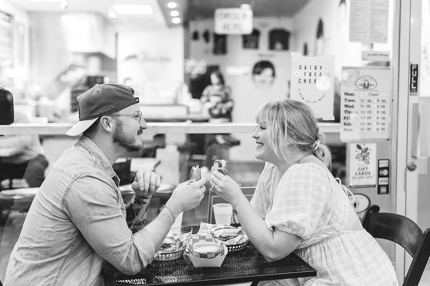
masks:
POLYGON ((252 33, 252 10, 240 8, 219 8, 215 10, 215 33, 252 33))

